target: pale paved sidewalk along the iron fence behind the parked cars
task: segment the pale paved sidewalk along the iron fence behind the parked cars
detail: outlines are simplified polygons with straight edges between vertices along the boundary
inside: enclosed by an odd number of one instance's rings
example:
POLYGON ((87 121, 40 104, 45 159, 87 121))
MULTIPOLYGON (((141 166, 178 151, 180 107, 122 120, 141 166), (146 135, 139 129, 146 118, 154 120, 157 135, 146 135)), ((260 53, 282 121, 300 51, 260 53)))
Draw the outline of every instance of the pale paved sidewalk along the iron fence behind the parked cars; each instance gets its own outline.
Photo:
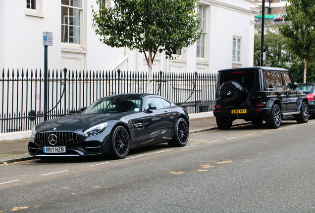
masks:
MULTIPOLYGON (((204 117, 190 119, 189 133, 197 133, 217 129, 215 117, 204 117)), ((233 126, 248 123, 244 120, 233 121, 233 126)), ((29 139, 0 142, 0 164, 12 163, 17 161, 34 159, 28 154, 29 139)))

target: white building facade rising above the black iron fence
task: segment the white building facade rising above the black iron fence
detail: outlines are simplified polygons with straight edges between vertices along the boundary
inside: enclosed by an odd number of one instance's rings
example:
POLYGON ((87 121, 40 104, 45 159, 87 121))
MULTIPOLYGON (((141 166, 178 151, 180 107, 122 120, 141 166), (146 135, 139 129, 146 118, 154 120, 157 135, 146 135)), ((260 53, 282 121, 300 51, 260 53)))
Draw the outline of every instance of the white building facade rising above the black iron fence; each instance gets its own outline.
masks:
MULTIPOLYGON (((92 5, 98 8, 96 0, 0 0, 0 68, 43 69, 43 32, 52 32, 49 69, 147 71, 142 53, 99 41, 92 5)), ((153 71, 209 73, 253 66, 257 9, 251 0, 200 0, 198 12, 201 39, 178 50, 172 61, 157 55, 153 71)))

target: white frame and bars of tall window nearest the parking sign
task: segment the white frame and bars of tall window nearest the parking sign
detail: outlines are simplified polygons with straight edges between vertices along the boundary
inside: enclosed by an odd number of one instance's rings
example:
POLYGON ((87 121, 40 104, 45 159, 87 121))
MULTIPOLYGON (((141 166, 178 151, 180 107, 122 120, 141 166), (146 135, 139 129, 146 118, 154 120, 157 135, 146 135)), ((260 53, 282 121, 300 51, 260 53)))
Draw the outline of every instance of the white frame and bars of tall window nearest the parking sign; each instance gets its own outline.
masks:
MULTIPOLYGON (((84 3, 84 0, 81 0, 81 7, 75 7, 75 6, 70 6, 70 5, 66 5, 66 4, 61 4, 61 6, 60 6, 60 9, 61 9, 61 7, 67 7, 68 9, 69 8, 73 8, 73 9, 79 9, 80 10, 80 42, 79 43, 70 43, 70 42, 63 42, 62 40, 62 38, 63 38, 63 36, 64 35, 61 35, 61 44, 62 44, 62 46, 65 46, 65 47, 82 47, 82 45, 83 45, 83 30, 82 30, 82 28, 83 28, 83 3, 84 3)), ((75 16, 73 16, 73 15, 68 15, 67 17, 69 17, 69 18, 71 18, 71 17, 75 17, 75 16)), ((64 19, 65 20, 65 19, 64 19)), ((65 23, 65 22, 64 22, 65 23)), ((62 24, 62 22, 60 22, 60 24, 61 24, 61 28, 62 27, 69 27, 69 26, 72 26, 72 25, 69 25, 69 21, 68 21, 68 24, 62 24)), ((74 27, 78 27, 78 26, 74 26, 74 27)), ((68 30, 68 41, 70 40, 69 38, 70 38, 70 36, 69 36, 69 30, 68 30)))

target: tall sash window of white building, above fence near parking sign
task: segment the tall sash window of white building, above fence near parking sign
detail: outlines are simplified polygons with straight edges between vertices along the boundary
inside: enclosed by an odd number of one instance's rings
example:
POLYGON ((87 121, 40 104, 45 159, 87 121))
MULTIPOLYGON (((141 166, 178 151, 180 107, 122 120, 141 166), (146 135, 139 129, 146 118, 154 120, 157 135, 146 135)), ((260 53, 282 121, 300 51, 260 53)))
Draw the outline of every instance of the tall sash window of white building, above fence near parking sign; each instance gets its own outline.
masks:
POLYGON ((61 0, 61 42, 81 43, 81 0, 61 0))

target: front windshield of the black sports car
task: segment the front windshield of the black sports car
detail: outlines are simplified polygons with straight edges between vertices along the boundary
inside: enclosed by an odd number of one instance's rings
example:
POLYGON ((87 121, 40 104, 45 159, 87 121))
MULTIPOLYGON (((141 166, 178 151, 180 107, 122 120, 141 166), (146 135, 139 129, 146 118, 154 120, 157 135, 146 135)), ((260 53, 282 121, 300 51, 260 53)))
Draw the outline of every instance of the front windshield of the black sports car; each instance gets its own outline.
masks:
POLYGON ((139 98, 111 97, 97 100, 83 114, 137 112, 140 111, 140 107, 141 99, 139 98))

